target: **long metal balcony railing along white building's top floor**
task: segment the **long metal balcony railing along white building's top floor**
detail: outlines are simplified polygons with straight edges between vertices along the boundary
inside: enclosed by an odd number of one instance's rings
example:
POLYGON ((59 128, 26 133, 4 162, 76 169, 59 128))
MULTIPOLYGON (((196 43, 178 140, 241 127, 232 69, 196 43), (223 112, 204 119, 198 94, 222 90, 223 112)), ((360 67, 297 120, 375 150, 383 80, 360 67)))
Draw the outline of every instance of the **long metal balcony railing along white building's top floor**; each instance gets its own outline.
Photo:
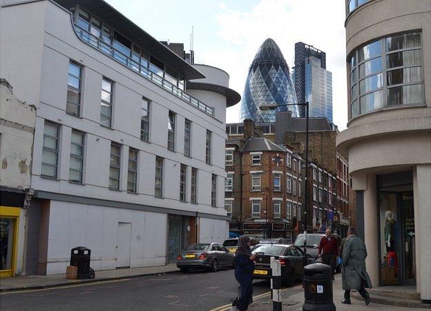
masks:
POLYGON ((99 39, 93 36, 93 34, 90 34, 90 32, 82 28, 79 28, 79 26, 77 26, 76 24, 75 24, 75 30, 78 34, 79 39, 81 39, 85 43, 88 43, 90 46, 97 48, 97 50, 103 52, 104 54, 109 55, 110 57, 113 57, 113 59, 115 59, 119 63, 122 63, 124 66, 127 66, 131 70, 139 73, 140 75, 142 75, 142 77, 149 79, 153 83, 157 84, 157 86, 161 86, 162 88, 164 88, 164 90, 171 92, 171 94, 174 94, 176 97, 182 99, 186 103, 189 103, 195 108, 198 108, 199 110, 205 112, 206 114, 209 114, 211 117, 214 117, 214 108, 209 107, 208 105, 202 103, 202 101, 199 101, 198 99, 195 99, 190 94, 187 94, 186 92, 184 92, 184 90, 181 90, 180 88, 178 88, 178 86, 174 86, 172 83, 163 79, 157 74, 151 72, 148 68, 142 66, 137 61, 133 61, 131 57, 128 57, 124 53, 115 49, 113 46, 104 42, 102 39, 99 39))

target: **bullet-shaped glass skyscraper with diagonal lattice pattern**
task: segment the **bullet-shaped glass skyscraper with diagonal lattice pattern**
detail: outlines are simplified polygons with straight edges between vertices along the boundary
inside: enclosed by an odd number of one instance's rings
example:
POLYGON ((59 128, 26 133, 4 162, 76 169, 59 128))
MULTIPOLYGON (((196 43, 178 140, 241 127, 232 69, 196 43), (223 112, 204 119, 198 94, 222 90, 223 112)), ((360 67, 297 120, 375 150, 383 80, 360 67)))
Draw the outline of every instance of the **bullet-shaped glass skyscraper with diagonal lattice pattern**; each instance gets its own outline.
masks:
POLYGON ((254 122, 274 122, 277 111, 292 112, 299 117, 298 106, 280 106, 274 110, 260 110, 268 104, 297 103, 294 83, 291 81, 289 66, 280 48, 273 39, 266 39, 260 46, 249 68, 241 102, 241 120, 254 122))

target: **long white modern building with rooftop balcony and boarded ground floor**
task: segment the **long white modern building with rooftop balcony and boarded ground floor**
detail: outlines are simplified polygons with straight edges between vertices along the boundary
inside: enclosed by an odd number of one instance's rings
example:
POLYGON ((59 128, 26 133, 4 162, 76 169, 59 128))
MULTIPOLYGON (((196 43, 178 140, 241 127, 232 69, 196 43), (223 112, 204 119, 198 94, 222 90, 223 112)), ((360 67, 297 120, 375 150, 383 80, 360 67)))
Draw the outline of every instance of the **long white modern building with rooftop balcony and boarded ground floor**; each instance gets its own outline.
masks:
POLYGON ((27 274, 165 265, 223 241, 229 75, 187 63, 102 0, 3 0, 0 77, 37 106, 27 274))

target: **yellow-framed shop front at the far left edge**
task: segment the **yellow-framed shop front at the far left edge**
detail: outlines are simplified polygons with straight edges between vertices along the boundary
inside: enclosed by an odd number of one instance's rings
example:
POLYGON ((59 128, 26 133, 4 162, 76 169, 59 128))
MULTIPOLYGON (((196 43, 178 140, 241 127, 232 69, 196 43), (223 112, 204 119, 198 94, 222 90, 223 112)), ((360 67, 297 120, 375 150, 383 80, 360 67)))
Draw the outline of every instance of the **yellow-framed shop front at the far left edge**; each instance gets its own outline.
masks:
POLYGON ((21 208, 0 206, 0 277, 15 275, 21 208))

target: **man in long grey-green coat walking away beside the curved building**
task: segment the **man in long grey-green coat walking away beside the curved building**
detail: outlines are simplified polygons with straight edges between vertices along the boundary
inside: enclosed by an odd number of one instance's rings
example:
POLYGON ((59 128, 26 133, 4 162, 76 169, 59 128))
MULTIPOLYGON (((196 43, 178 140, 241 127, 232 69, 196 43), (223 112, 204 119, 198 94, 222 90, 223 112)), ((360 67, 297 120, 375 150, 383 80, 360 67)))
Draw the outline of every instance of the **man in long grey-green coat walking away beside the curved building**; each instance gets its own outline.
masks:
POLYGON ((350 291, 357 290, 365 299, 365 305, 370 303, 370 294, 365 288, 372 288, 370 277, 365 269, 365 258, 367 258, 367 248, 361 238, 356 237, 356 228, 350 227, 347 230, 349 236, 345 240, 343 247, 343 290, 344 301, 350 304, 350 291))

